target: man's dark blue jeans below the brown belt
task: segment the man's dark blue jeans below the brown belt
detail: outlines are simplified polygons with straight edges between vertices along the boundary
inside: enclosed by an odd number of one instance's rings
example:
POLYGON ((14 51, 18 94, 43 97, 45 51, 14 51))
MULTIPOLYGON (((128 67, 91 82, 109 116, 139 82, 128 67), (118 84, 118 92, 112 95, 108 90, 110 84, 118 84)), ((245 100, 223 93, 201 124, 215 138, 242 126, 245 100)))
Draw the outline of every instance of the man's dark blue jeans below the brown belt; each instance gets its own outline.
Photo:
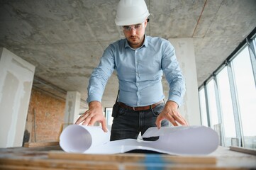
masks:
MULTIPOLYGON (((113 118, 110 140, 137 139, 140 132, 143 135, 148 128, 156 127, 155 120, 164 107, 164 103, 147 111, 132 111, 128 108, 118 107, 118 115, 113 118)), ((167 120, 162 120, 162 127, 168 126, 168 124, 167 120)), ((150 137, 143 140, 157 139, 158 137, 150 137)))

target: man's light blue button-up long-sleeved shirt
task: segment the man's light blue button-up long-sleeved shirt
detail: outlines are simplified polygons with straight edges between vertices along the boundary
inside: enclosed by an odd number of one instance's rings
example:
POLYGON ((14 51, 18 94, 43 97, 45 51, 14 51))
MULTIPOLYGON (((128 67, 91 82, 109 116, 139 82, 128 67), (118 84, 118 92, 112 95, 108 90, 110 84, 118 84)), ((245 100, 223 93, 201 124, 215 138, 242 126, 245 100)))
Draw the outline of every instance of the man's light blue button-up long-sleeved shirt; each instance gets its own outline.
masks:
MULTIPOLYGON (((162 73, 169 83, 168 101, 179 106, 185 92, 184 77, 168 40, 145 35, 143 45, 133 49, 126 39, 109 45, 99 66, 91 74, 87 102, 101 101, 108 78, 116 69, 119 81, 118 101, 128 106, 148 106, 165 98, 162 73)), ((117 91, 116 91, 117 92, 117 91)))

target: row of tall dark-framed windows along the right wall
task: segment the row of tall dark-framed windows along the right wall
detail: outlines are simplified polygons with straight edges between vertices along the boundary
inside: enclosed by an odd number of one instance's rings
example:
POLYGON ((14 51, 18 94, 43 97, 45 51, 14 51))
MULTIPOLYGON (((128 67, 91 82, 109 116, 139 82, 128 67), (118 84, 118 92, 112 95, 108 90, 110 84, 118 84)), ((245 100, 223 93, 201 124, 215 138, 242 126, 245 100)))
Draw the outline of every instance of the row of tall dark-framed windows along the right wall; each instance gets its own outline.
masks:
POLYGON ((252 35, 199 87, 201 124, 213 129, 218 125, 224 146, 256 148, 256 38, 252 40, 252 35))

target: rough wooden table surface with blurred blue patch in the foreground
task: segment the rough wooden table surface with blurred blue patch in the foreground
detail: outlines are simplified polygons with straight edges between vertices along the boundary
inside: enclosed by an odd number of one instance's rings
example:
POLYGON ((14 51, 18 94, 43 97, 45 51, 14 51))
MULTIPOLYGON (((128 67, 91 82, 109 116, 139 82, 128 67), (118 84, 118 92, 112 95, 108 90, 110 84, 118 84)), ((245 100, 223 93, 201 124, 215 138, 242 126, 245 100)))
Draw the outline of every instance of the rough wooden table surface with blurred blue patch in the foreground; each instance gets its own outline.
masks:
POLYGON ((70 154, 60 146, 0 149, 0 169, 256 169, 256 156, 218 149, 207 156, 70 154))

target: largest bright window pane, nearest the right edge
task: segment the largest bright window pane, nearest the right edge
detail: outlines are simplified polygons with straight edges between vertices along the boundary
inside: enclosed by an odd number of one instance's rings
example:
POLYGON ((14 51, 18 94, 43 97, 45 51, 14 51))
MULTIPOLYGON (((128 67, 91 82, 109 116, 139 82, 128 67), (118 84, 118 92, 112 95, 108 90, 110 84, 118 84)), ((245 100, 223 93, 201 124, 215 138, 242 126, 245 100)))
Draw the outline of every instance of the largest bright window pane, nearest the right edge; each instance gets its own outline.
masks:
POLYGON ((245 147, 252 147, 252 136, 256 136, 256 89, 248 47, 235 56, 232 64, 245 147))

